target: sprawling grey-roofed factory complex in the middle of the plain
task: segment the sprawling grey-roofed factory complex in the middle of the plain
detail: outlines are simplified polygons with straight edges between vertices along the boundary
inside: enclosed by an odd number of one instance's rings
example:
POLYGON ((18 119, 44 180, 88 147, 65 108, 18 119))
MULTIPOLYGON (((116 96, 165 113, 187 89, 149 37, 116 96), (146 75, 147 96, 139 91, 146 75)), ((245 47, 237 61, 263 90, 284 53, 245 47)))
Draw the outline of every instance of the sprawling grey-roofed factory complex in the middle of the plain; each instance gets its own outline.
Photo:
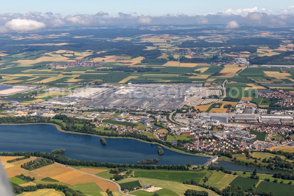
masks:
POLYGON ((190 98, 201 97, 203 93, 209 96, 215 94, 215 90, 175 84, 99 85, 80 88, 66 97, 54 98, 42 104, 69 106, 82 103, 84 107, 172 111, 190 98))

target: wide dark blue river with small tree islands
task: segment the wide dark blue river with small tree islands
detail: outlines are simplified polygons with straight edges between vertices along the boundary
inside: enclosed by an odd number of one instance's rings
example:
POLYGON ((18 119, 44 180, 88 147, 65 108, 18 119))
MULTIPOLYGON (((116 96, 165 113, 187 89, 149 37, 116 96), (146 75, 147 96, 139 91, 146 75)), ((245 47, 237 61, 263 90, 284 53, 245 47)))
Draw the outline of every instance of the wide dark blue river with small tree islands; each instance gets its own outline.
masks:
MULTIPOLYGON (((50 152, 64 148, 65 157, 79 160, 136 164, 142 159, 158 158, 158 165, 204 164, 208 157, 188 155, 167 148, 158 155, 157 145, 127 138, 105 138, 106 145, 100 143, 100 137, 60 132, 51 124, 0 125, 0 152, 50 152)), ((215 167, 223 166, 227 170, 253 171, 255 167, 232 162, 218 161, 215 167)), ((256 168, 258 172, 270 170, 256 168)))

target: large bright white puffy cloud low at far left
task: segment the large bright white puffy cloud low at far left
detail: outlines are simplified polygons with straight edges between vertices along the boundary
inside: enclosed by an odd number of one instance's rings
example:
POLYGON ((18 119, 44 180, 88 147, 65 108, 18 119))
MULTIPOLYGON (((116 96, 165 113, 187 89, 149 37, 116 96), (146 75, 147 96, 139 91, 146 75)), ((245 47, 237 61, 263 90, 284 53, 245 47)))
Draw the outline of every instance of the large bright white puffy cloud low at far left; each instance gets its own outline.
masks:
POLYGON ((44 28, 46 25, 43 22, 27 19, 12 19, 6 22, 5 27, 13 31, 31 31, 44 28))

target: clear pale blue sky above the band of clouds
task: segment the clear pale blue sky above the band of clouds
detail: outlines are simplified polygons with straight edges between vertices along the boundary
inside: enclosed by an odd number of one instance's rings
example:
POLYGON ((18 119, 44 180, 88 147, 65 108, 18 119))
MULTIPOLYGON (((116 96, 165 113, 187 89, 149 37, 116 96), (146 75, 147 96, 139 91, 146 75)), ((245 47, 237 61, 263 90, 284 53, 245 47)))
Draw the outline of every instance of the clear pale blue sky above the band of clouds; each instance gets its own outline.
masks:
POLYGON ((245 9, 257 7, 265 10, 279 10, 294 5, 291 0, 12 0, 1 1, 0 13, 27 13, 28 11, 68 14, 95 14, 99 11, 117 15, 118 12, 159 16, 184 13, 217 13, 227 9, 245 9))

